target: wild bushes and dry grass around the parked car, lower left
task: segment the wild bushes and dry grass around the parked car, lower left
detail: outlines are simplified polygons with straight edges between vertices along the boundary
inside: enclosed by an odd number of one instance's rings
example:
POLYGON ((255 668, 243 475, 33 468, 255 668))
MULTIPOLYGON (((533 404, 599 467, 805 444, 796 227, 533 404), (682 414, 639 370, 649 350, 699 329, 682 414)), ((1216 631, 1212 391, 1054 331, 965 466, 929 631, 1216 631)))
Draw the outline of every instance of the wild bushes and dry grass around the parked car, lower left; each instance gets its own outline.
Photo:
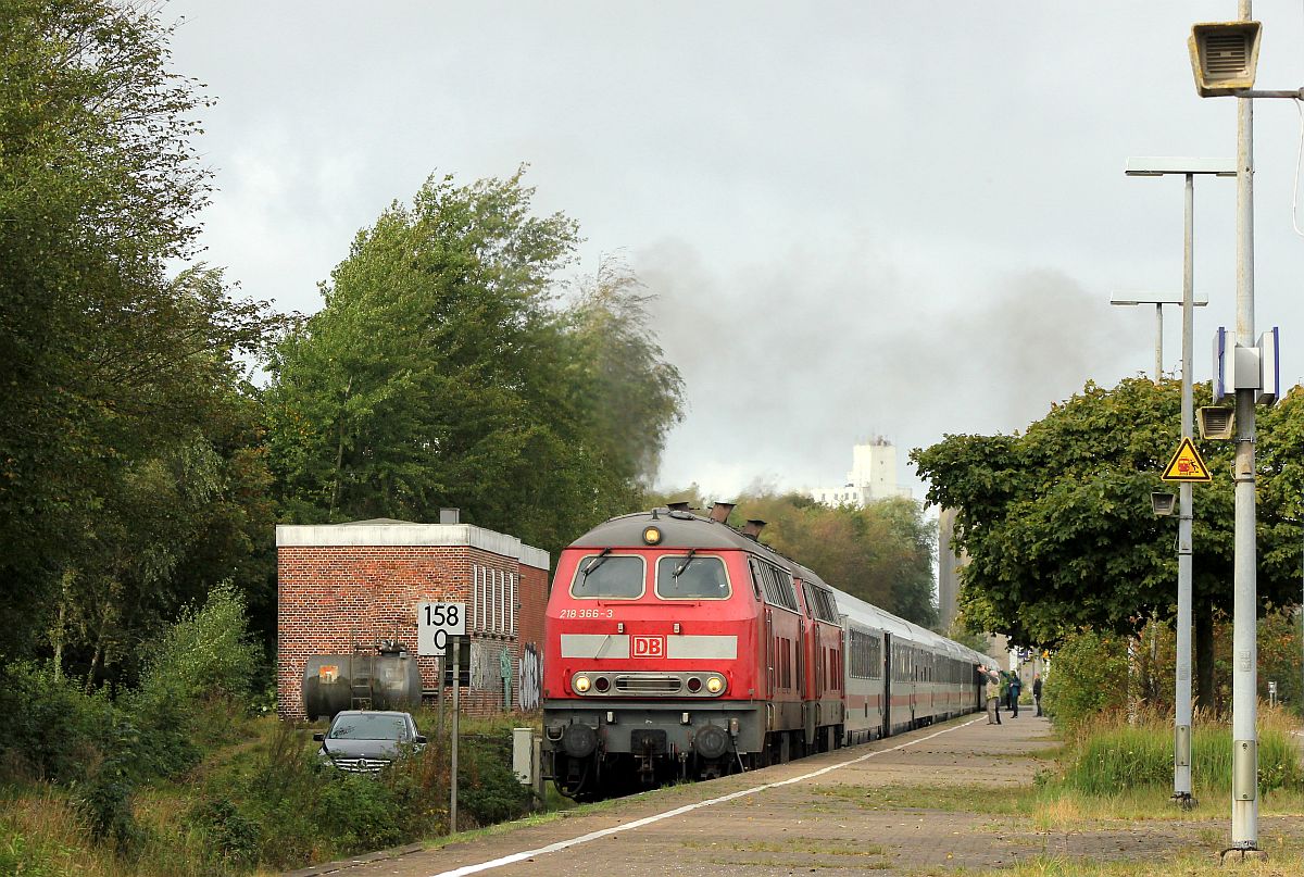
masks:
MULTIPOLYGON (((5 668, 0 709, 0 873, 243 874, 446 834, 449 740, 379 777, 317 757, 310 728, 249 696, 261 655, 230 586, 153 650, 138 688, 110 700, 52 666, 5 668), (26 780, 26 782, 21 782, 26 780)), ((510 726, 468 722, 459 829, 536 804, 510 769, 510 726)))

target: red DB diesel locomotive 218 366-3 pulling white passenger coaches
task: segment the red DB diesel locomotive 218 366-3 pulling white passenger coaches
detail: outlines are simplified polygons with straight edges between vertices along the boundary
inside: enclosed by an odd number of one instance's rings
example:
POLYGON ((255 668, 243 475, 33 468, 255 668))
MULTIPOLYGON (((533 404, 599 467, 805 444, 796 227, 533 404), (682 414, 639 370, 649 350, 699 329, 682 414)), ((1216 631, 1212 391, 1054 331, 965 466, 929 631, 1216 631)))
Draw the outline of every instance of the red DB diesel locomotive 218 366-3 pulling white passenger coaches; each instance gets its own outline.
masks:
POLYGON ((982 707, 987 656, 829 586, 733 509, 612 518, 558 557, 542 750, 562 795, 711 779, 982 707))

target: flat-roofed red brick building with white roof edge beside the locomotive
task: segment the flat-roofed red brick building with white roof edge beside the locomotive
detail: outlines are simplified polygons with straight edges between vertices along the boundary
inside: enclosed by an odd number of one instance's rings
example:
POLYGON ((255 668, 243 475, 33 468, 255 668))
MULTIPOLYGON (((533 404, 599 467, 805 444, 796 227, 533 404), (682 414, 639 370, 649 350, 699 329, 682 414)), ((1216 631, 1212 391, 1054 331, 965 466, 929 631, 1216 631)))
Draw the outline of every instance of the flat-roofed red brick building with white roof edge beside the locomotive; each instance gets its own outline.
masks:
MULTIPOLYGON (((455 517, 452 518, 455 519, 455 517)), ((276 527, 276 702, 283 719, 305 718, 310 655, 373 650, 385 639, 417 651, 417 604, 466 603, 464 711, 539 705, 548 603, 548 552, 467 523, 381 518, 276 527), (505 692, 503 667, 510 667, 505 692)), ((424 700, 438 690, 437 658, 419 656, 424 700)), ((451 660, 443 668, 451 697, 451 660)))

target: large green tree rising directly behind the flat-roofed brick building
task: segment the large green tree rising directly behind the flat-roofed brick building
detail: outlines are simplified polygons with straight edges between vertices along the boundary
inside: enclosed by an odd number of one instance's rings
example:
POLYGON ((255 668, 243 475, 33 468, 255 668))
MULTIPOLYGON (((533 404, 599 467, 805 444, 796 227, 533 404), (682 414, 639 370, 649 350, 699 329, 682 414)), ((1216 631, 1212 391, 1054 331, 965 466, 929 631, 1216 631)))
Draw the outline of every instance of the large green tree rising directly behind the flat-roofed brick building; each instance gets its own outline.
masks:
POLYGON ((576 304, 578 240, 518 171, 432 177, 360 232, 325 307, 276 348, 266 401, 286 517, 471 522, 556 548, 629 508, 679 416, 681 381, 627 274, 576 304))

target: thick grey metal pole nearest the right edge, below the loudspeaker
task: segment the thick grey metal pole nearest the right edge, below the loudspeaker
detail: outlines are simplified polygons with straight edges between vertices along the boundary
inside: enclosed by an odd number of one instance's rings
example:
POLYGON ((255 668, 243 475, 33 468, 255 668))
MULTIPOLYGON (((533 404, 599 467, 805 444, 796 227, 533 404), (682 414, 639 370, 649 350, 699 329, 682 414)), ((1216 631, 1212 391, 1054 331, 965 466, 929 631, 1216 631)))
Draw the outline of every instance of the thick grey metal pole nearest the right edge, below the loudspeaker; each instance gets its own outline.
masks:
MULTIPOLYGON (((1251 1, 1240 0, 1249 21, 1251 1)), ((1236 343, 1254 346, 1254 104, 1236 114, 1236 343)), ((1239 382, 1239 381, 1237 381, 1239 382)), ((1258 850, 1258 737, 1256 720, 1254 389, 1236 389, 1236 547, 1232 576, 1231 846, 1258 850)))

